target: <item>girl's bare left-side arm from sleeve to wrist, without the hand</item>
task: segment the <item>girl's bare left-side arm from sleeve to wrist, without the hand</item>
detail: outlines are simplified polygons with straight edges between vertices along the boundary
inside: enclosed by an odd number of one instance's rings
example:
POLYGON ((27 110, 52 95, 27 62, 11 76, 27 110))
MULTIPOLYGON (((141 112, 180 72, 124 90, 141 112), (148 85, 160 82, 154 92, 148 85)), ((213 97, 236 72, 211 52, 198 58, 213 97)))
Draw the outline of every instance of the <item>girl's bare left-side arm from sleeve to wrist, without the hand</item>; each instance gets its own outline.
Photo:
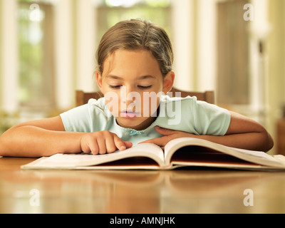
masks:
POLYGON ((79 152, 81 133, 65 131, 61 117, 20 123, 0 137, 0 155, 41 157, 56 152, 79 152))

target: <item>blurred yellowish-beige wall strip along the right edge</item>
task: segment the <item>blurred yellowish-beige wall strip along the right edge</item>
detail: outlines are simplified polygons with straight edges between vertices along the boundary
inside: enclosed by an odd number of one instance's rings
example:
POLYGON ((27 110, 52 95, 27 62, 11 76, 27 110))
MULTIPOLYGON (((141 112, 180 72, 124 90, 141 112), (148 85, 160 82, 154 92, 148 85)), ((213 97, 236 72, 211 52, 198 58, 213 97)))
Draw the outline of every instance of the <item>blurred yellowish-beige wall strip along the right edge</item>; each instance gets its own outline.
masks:
POLYGON ((285 1, 269 1, 268 91, 266 122, 268 130, 276 140, 276 121, 281 118, 281 107, 285 104, 285 1))

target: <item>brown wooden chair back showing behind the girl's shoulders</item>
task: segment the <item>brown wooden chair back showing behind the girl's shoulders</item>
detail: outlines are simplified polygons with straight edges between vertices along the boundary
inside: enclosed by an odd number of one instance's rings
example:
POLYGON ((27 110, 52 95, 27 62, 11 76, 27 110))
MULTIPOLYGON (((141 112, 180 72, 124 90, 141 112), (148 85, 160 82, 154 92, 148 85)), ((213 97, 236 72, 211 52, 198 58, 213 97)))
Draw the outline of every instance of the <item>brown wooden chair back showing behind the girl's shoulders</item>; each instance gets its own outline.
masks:
MULTIPOLYGON (((172 88, 172 97, 175 97, 175 92, 180 92, 181 97, 185 98, 187 95, 196 96, 197 100, 203 100, 207 103, 214 104, 214 91, 205 91, 205 92, 187 92, 184 90, 178 90, 177 88, 172 88)), ((99 92, 85 93, 82 90, 76 90, 76 106, 84 105, 88 103, 90 98, 99 99, 102 98, 103 94, 99 92)))

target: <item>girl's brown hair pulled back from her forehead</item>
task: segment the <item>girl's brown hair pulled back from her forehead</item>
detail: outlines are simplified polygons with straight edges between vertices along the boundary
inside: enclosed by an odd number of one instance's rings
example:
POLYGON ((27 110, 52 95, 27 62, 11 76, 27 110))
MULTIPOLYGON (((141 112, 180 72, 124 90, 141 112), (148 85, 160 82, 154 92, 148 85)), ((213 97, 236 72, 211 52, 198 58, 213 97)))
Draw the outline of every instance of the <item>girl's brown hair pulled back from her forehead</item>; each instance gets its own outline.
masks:
POLYGON ((106 31, 96 53, 100 73, 103 73, 105 59, 118 49, 148 50, 157 59, 162 76, 172 71, 173 51, 170 38, 163 28, 150 21, 120 21, 106 31))

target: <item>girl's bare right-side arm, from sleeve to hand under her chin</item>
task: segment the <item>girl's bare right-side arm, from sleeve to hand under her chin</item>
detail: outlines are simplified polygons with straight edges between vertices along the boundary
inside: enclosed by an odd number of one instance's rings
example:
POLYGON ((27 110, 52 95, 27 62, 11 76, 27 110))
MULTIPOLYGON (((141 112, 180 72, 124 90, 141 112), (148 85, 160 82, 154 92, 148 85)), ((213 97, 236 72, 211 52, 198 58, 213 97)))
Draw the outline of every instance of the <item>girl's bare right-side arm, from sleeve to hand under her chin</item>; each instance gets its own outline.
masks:
POLYGON ((230 113, 231 123, 229 124, 226 135, 193 135, 182 131, 156 128, 158 133, 165 136, 152 140, 146 140, 144 142, 152 142, 164 147, 167 142, 174 138, 192 137, 202 138, 204 140, 217 142, 222 145, 247 150, 260 150, 267 152, 273 147, 274 142, 262 125, 238 113, 230 113))

